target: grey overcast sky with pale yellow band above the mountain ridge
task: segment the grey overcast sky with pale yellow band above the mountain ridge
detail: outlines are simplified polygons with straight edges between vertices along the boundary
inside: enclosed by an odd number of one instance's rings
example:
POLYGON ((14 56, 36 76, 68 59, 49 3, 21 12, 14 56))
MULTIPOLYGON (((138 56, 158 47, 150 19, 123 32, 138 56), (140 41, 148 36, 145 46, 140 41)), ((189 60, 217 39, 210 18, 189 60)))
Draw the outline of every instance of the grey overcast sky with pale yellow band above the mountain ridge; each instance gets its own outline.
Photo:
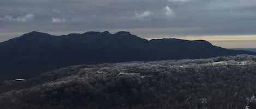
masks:
POLYGON ((63 35, 105 30, 256 48, 256 0, 0 1, 0 42, 29 31, 63 35))

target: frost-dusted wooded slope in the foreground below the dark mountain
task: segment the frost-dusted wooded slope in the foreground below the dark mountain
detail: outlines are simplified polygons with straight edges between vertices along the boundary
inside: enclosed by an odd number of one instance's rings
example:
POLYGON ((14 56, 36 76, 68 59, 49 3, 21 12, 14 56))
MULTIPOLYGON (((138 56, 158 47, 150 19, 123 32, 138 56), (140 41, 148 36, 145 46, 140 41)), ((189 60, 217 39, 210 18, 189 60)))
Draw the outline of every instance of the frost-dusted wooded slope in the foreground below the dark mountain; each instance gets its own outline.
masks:
POLYGON ((0 94, 0 108, 252 109, 255 72, 248 55, 72 66, 0 94))

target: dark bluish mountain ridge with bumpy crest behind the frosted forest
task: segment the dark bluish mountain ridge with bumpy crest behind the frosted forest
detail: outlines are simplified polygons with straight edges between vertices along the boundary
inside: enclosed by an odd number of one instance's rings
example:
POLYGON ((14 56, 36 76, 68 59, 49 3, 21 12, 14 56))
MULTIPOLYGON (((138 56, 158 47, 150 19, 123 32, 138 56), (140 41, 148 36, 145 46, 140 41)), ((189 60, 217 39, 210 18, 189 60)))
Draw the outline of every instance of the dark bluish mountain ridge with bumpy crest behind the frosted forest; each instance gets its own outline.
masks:
POLYGON ((216 47, 203 40, 148 41, 127 31, 115 34, 89 31, 62 36, 32 31, 0 43, 0 51, 0 80, 27 79, 48 70, 81 64, 255 55, 216 47))

